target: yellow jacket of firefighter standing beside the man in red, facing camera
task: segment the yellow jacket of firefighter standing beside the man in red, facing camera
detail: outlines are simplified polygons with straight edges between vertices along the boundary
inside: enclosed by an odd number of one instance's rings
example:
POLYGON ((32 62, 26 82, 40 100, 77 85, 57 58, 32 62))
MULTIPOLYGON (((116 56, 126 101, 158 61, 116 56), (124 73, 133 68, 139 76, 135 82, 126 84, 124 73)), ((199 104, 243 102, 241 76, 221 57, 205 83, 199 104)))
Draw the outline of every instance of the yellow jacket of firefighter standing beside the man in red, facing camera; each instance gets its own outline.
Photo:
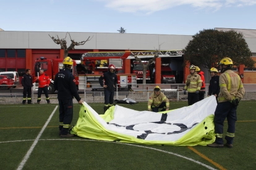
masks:
POLYGON ((200 91, 202 86, 202 79, 197 73, 189 74, 186 79, 185 90, 187 92, 200 91))

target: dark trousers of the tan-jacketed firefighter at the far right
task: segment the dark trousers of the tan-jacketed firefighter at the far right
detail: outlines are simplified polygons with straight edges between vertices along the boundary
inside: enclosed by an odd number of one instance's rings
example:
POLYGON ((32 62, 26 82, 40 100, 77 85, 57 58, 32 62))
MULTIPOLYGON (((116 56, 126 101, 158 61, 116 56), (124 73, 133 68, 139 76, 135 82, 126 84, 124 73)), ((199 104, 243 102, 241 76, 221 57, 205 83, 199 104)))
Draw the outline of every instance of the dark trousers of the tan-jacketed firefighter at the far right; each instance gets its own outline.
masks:
MULTIPOLYGON (((214 124, 215 124, 215 133, 216 134, 223 134, 223 124, 225 119, 228 120, 228 134, 234 134, 236 128, 236 109, 237 106, 233 105, 231 102, 219 102, 216 110, 215 110, 215 117, 214 117, 214 124)), ((234 136, 225 136, 228 144, 233 144, 234 136)), ((223 145, 222 137, 216 137, 215 142, 217 144, 223 145)))

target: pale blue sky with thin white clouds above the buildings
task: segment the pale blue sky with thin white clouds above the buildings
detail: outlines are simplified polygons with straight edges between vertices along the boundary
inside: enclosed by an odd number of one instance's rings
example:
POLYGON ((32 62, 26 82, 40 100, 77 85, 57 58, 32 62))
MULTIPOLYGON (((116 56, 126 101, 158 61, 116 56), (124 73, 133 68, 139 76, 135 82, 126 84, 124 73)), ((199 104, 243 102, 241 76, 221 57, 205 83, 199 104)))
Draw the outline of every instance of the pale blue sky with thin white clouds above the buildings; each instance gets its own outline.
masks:
POLYGON ((5 31, 194 35, 203 29, 256 30, 256 0, 0 0, 5 31))

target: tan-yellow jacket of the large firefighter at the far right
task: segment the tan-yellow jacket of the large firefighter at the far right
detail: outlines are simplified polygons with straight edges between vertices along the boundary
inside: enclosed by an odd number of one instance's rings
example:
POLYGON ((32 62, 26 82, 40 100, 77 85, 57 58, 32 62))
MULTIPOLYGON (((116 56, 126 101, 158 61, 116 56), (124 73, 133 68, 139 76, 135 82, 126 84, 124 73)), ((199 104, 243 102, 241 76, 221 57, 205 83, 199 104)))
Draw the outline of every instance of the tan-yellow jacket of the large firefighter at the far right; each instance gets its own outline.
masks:
POLYGON ((241 100, 245 90, 239 75, 232 70, 226 70, 220 75, 220 94, 218 102, 241 100))

